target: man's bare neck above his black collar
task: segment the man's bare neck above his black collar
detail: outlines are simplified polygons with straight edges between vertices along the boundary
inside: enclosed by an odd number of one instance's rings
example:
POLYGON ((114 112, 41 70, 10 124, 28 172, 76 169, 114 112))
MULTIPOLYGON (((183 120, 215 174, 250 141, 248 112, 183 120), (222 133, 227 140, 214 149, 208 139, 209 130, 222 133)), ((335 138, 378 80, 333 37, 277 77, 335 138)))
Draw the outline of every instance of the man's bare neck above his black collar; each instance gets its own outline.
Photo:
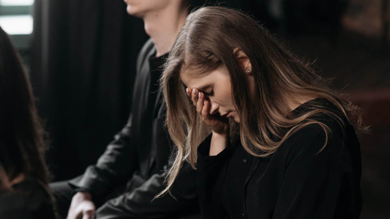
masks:
POLYGON ((188 11, 172 6, 144 17, 145 31, 156 46, 156 57, 170 51, 187 15, 188 11))

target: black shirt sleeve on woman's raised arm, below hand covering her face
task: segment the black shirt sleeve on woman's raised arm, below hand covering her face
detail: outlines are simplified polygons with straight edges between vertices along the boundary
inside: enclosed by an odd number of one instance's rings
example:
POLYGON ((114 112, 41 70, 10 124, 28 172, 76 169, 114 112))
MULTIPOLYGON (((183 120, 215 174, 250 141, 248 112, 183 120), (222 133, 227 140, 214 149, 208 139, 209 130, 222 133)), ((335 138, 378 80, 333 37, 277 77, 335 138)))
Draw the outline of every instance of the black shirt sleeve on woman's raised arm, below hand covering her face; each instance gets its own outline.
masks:
POLYGON ((226 218, 221 203, 222 188, 227 174, 227 162, 231 148, 226 147, 215 156, 209 156, 210 134, 198 147, 197 190, 202 218, 226 218))

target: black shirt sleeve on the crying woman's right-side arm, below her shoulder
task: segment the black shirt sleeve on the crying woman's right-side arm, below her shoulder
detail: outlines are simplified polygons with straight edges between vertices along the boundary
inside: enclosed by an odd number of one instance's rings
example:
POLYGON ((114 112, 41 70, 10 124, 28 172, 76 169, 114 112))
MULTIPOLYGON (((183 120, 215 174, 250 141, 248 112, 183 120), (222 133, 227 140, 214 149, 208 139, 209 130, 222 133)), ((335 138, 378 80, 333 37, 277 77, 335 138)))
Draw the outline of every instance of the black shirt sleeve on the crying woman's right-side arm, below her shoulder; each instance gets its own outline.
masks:
POLYGON ((349 174, 345 168, 349 153, 344 148, 344 138, 337 133, 329 136, 328 144, 319 152, 326 136, 323 130, 318 130, 312 129, 310 134, 295 139, 273 219, 330 219, 340 215, 337 213, 340 190, 342 185, 352 184, 347 181, 349 174))

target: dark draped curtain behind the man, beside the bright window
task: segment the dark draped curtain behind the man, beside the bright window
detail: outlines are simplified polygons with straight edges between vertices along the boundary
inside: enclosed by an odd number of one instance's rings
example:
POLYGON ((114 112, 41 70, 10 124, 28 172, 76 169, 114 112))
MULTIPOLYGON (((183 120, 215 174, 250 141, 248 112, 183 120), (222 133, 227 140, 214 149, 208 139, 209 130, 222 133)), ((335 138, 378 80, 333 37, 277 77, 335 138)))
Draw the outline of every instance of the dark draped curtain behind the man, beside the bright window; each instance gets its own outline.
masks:
POLYGON ((35 0, 31 80, 53 180, 83 173, 126 123, 146 40, 123 1, 35 0))

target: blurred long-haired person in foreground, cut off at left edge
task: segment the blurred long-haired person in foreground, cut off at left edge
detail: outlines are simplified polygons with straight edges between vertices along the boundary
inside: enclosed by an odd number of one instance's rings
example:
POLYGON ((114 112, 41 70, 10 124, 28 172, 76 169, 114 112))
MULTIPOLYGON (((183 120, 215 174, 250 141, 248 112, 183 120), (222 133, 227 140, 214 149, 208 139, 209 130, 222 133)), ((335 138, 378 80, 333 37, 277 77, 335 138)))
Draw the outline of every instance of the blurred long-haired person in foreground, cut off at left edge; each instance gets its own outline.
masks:
POLYGON ((55 218, 43 152, 30 83, 0 28, 0 218, 55 218))

